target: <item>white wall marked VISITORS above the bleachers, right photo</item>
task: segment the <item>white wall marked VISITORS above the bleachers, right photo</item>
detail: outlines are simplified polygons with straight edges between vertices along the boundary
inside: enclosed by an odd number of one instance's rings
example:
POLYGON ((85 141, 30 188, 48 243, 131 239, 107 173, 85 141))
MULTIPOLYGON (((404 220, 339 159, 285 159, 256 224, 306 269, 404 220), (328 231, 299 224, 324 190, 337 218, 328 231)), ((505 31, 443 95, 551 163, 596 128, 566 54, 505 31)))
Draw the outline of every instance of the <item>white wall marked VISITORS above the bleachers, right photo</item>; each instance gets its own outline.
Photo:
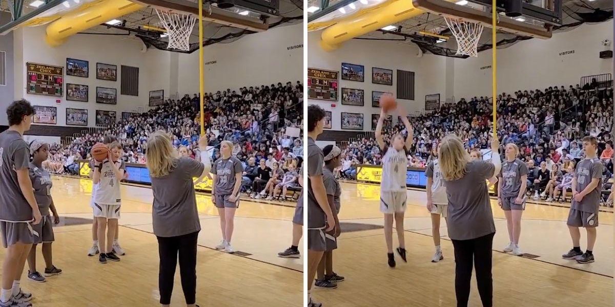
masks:
MULTIPOLYGON (((498 93, 568 88, 582 76, 613 73, 613 58, 598 57, 603 50, 613 50, 613 45, 601 44, 604 39, 613 40, 613 19, 498 49, 498 93)), ((491 50, 478 53, 478 58, 454 59, 455 98, 491 96, 491 68, 485 68, 490 65, 491 50)))

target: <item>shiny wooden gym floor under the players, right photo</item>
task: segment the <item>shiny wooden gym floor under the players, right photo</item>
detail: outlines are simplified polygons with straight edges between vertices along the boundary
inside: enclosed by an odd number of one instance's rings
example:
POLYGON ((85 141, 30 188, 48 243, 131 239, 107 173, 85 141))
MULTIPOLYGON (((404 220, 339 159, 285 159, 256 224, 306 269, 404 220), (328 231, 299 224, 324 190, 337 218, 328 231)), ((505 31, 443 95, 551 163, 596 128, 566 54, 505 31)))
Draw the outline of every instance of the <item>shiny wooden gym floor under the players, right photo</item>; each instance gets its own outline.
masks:
MULTIPOLYGON (((341 183, 340 220, 346 227, 371 229, 343 233, 334 253, 334 271, 346 278, 338 289, 312 290, 325 306, 455 306, 453 246, 446 237, 446 223, 440 233, 444 260, 432 263, 434 243, 431 219, 425 208, 426 193, 408 190, 405 219, 408 263, 397 257, 397 267, 386 263, 386 245, 379 212, 379 186, 341 183), (351 223, 362 224, 360 227, 351 223)), ((523 214, 522 251, 538 256, 517 257, 501 252, 508 243, 506 219, 492 200, 496 236, 493 252, 494 306, 613 306, 613 213, 600 212, 600 226, 594 254, 595 263, 579 265, 564 260, 571 240, 566 227, 568 208, 528 204, 523 214)), ((394 247, 397 235, 394 232, 394 247)), ((586 247, 581 230, 581 248, 586 247)), ((469 306, 482 306, 472 280, 469 306)))

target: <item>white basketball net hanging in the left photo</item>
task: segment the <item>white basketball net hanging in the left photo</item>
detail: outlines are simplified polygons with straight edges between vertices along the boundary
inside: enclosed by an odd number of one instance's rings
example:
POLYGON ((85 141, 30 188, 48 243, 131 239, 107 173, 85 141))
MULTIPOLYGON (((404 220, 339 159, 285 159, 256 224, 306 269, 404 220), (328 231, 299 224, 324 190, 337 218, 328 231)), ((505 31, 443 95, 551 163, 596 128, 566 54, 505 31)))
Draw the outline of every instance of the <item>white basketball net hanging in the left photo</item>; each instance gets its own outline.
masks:
POLYGON ((169 35, 169 49, 190 50, 190 34, 196 18, 193 15, 183 15, 156 9, 156 14, 169 35))

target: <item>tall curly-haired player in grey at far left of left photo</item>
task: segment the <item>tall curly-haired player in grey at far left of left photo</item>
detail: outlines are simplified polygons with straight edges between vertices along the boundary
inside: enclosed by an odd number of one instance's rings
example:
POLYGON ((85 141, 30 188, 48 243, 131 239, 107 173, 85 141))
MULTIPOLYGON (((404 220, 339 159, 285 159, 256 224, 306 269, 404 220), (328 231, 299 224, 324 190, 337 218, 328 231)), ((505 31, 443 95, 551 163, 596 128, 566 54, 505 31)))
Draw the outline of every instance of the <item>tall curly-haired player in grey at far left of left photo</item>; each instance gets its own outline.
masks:
POLYGON ((32 225, 41 222, 30 181, 30 148, 23 133, 30 130, 34 108, 25 99, 6 109, 9 129, 0 133, 0 231, 6 248, 2 263, 0 307, 32 306, 32 294, 20 287, 23 266, 38 233, 32 225))

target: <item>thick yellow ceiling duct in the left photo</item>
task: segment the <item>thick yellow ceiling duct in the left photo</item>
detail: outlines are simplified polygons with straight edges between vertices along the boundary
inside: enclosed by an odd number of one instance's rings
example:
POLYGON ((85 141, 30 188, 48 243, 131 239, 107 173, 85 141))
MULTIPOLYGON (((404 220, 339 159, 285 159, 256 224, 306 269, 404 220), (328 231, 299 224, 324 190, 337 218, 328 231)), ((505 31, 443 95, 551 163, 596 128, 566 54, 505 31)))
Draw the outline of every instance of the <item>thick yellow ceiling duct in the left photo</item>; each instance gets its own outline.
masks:
POLYGON ((82 10, 74 10, 47 26, 45 40, 52 47, 62 45, 67 37, 101 25, 145 6, 128 0, 105 0, 82 10))

